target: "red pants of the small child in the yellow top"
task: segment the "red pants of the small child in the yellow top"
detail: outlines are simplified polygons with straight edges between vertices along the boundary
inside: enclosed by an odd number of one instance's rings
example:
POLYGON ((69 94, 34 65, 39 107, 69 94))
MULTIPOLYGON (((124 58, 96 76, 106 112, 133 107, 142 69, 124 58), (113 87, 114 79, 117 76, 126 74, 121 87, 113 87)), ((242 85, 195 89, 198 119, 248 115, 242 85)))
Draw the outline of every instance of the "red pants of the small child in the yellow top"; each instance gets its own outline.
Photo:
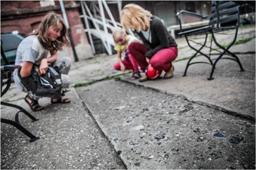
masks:
MULTIPOLYGON (((138 72, 139 71, 139 65, 137 61, 134 59, 134 57, 131 54, 128 54, 130 60, 124 59, 122 61, 123 65, 125 66, 126 70, 133 70, 133 72, 138 72)), ((119 62, 114 63, 114 69, 115 70, 120 70, 120 64, 119 62)))

